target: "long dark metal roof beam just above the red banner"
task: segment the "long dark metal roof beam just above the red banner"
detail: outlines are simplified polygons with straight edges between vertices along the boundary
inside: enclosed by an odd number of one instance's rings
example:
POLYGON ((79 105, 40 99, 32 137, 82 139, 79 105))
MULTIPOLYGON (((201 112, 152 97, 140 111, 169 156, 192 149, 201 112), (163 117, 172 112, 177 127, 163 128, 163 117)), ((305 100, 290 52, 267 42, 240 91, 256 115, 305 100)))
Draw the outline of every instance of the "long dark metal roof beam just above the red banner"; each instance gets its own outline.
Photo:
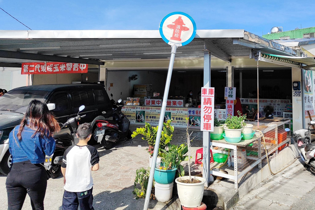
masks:
POLYGON ((61 57, 61 56, 55 56, 55 55, 43 55, 43 54, 34 54, 34 53, 21 53, 21 52, 7 51, 7 50, 0 50, 0 58, 14 58, 14 59, 25 59, 25 60, 42 60, 42 61, 53 61, 53 62, 104 65, 104 62, 91 60, 91 59, 61 57))

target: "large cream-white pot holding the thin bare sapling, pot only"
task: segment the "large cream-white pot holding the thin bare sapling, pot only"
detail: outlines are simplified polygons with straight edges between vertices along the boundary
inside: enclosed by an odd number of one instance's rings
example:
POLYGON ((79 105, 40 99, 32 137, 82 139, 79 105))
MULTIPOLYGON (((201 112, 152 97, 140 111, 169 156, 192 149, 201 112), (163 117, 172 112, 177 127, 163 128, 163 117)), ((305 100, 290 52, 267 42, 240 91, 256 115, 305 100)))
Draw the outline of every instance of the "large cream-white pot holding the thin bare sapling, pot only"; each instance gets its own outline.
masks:
POLYGON ((201 205, 204 183, 206 182, 206 180, 202 177, 192 176, 192 178, 199 179, 201 182, 196 184, 186 184, 178 181, 180 179, 189 179, 189 176, 183 176, 175 179, 180 204, 187 208, 194 208, 201 205))

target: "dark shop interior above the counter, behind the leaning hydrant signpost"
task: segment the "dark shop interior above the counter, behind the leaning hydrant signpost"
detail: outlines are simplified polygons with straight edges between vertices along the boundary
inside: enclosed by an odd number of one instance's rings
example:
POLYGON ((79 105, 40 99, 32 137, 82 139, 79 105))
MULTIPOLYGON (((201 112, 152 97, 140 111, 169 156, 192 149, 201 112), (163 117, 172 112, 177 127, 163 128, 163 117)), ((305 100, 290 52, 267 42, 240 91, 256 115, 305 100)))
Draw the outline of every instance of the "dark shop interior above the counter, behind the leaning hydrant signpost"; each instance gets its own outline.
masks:
MULTIPOLYGON (((107 93, 114 95, 114 99, 133 97, 134 85, 151 84, 152 91, 147 96, 152 99, 162 99, 164 94, 167 70, 142 70, 142 71, 107 71, 107 93), (134 76, 136 75, 136 76, 134 76), (134 77, 136 79, 134 79, 134 77), (132 79, 129 79, 132 77, 132 79), (153 97, 153 93, 160 95, 153 97)), ((211 69, 211 86, 215 87, 218 101, 224 101, 224 88, 226 87, 226 68, 211 69)), ((173 70, 169 99, 188 100, 192 91, 192 105, 200 104, 198 92, 203 87, 203 70, 173 70)))

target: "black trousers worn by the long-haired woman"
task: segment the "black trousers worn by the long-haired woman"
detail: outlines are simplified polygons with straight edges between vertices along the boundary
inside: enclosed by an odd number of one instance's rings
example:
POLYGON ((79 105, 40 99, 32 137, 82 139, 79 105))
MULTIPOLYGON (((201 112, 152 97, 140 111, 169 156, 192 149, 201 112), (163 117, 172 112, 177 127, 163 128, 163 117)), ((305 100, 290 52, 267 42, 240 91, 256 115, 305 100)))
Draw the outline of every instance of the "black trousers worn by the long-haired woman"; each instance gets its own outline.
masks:
POLYGON ((30 161, 13 163, 6 181, 8 210, 22 209, 26 194, 32 209, 43 210, 47 187, 46 169, 30 161))

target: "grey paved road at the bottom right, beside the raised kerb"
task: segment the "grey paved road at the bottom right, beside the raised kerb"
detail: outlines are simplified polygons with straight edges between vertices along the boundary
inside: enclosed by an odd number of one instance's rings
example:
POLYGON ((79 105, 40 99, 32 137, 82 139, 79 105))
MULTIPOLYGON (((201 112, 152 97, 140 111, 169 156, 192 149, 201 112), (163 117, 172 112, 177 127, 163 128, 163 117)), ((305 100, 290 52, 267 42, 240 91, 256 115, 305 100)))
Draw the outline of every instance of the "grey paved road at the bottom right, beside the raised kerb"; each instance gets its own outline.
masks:
POLYGON ((235 210, 314 210, 315 176, 297 160, 243 196, 235 210))

